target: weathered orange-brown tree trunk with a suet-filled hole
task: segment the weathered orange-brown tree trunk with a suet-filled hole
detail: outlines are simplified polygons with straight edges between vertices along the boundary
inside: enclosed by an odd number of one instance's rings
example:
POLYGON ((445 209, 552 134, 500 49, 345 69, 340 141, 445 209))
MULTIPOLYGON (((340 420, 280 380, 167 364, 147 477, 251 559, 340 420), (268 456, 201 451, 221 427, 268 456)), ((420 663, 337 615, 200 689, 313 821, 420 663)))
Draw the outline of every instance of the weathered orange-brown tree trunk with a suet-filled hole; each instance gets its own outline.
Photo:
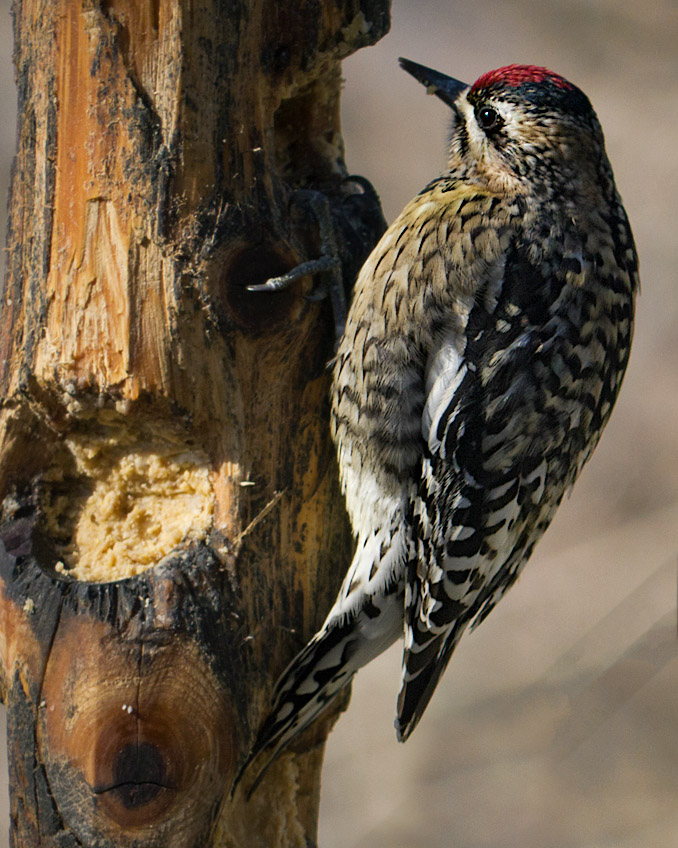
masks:
POLYGON ((350 281, 340 60, 387 0, 15 0, 0 318, 0 685, 12 845, 306 846, 332 719, 229 788, 350 538, 333 328, 298 189, 350 281))

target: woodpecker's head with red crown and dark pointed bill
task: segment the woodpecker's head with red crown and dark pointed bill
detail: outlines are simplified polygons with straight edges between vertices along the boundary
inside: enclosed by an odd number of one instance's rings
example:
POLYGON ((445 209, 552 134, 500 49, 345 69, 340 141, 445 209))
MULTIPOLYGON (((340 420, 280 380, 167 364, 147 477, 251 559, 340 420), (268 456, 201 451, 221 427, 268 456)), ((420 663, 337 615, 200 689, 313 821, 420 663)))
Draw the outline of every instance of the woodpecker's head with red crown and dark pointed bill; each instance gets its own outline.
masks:
POLYGON ((590 192, 609 170, 586 95, 535 65, 489 71, 473 85, 401 59, 404 70, 452 110, 449 167, 490 189, 590 192))

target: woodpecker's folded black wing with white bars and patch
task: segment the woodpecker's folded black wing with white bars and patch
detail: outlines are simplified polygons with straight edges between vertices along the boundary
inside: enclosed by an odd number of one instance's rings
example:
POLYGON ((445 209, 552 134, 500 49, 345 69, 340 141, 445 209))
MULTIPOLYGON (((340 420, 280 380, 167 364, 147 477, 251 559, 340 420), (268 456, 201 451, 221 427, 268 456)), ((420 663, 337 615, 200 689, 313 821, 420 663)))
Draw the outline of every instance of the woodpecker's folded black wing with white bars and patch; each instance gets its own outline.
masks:
POLYGON ((429 358, 426 448, 410 503, 403 740, 465 628, 516 580, 592 450, 595 406, 573 324, 582 308, 564 279, 543 279, 514 249, 497 291, 477 298, 463 343, 451 335, 429 358), (558 286, 569 315, 549 314, 558 286))

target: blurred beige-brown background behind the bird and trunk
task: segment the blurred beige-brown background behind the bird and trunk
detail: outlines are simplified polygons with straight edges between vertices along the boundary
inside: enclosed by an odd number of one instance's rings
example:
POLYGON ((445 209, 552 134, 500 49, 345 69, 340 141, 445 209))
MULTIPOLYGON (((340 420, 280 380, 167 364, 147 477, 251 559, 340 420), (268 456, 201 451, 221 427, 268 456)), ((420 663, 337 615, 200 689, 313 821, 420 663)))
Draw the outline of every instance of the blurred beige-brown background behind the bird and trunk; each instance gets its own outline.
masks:
MULTIPOLYGON (((0 13, 5 193, 8 0, 0 13)), ((541 64, 583 88, 605 129, 643 289, 596 455, 518 585, 462 641, 407 745, 392 727, 398 647, 358 676, 328 746, 320 846, 676 848, 678 4, 395 0, 391 34, 344 65, 349 169, 374 183, 388 220, 441 169, 448 122, 399 70, 401 55, 469 83, 511 62, 541 64)), ((4 208, 1 223, 4 232, 4 208)))

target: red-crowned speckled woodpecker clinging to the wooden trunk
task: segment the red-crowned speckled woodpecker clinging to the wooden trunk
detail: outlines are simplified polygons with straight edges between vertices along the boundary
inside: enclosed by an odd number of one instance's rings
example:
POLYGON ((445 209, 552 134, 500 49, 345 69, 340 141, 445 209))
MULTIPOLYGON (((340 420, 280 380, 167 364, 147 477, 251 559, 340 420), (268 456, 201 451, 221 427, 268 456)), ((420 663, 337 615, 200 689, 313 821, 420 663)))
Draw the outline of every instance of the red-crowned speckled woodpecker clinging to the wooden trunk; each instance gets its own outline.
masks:
POLYGON ((533 65, 469 86, 400 62, 451 110, 449 158, 358 276, 331 420, 355 556, 246 766, 399 637, 409 737, 591 456, 629 358, 638 261, 586 95, 533 65))

